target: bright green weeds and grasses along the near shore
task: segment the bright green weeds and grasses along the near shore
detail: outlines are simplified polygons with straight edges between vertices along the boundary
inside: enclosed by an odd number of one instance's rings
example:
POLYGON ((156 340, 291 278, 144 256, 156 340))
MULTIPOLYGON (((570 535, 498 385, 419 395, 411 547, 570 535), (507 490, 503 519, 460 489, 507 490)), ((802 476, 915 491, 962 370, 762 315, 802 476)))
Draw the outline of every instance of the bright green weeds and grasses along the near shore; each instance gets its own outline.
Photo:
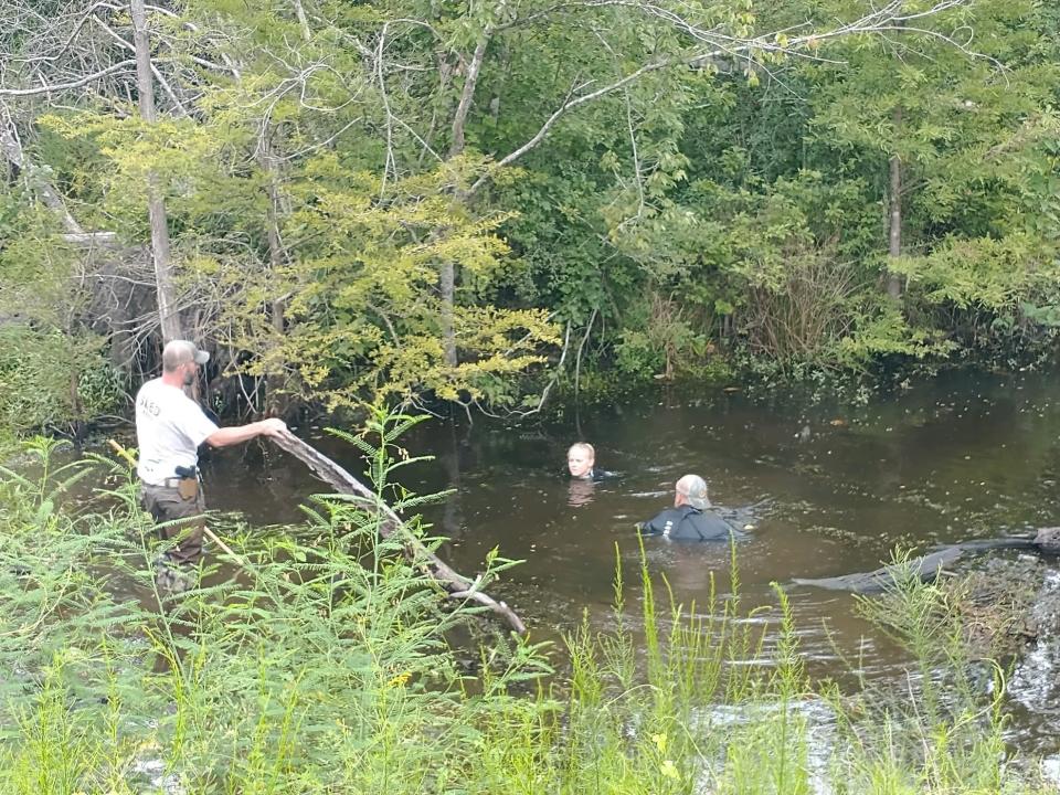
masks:
MULTIPOLYGON (((360 438, 379 494, 412 508, 388 485, 399 422, 360 438)), ((1005 746, 1000 670, 915 577, 862 603, 914 661, 901 692, 810 681, 784 592, 778 623, 748 621, 735 559, 733 593, 689 605, 618 569, 616 628, 583 622, 558 672, 341 498, 267 537, 225 528, 240 560, 167 597, 126 464, 55 449, 28 446, 33 478, 0 473, 0 793, 1052 791, 1005 746), (89 473, 110 486, 64 504, 89 473), (465 625, 474 670, 449 643, 465 625)))

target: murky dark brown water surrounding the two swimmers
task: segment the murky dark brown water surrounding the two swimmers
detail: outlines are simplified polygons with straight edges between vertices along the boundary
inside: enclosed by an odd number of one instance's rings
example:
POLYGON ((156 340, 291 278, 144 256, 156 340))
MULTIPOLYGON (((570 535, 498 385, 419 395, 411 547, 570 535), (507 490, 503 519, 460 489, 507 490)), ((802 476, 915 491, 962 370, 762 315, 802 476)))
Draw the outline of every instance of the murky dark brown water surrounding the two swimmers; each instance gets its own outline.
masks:
MULTIPOLYGON (((748 605, 775 605, 774 581, 875 569, 895 545, 925 549, 1060 524, 1057 395, 1057 377, 961 373, 856 406, 819 395, 674 393, 548 425, 432 421, 403 443, 436 460, 402 477, 421 492, 455 489, 425 511, 452 539, 439 554, 455 569, 474 574, 495 547, 526 561, 489 591, 512 604, 536 637, 555 637, 583 610, 597 626, 613 621, 616 545, 627 581, 635 580, 633 523, 669 505, 686 473, 702 475, 713 502, 742 508, 741 523, 754 527, 739 544, 748 605), (592 442, 597 466, 621 477, 572 483, 565 454, 576 439, 592 442)), ((352 447, 317 428, 296 432, 362 474, 352 447)), ((264 465, 254 449, 225 451, 205 476, 211 507, 240 510, 252 523, 297 521, 299 501, 321 490, 277 451, 264 465)), ((720 591, 729 589, 724 544, 647 539, 645 547, 648 566, 667 576, 679 601, 702 603, 711 575, 720 591)), ((904 657, 855 614, 849 594, 787 590, 812 674, 848 676, 854 664, 870 677, 901 676, 904 657)), ((630 590, 630 602, 638 592, 630 590)), ((1042 692, 1019 707, 1019 732, 1036 750, 1056 752, 1060 691, 1041 681, 1056 669, 1017 670, 1017 686, 1020 676, 1025 689, 1042 692)))

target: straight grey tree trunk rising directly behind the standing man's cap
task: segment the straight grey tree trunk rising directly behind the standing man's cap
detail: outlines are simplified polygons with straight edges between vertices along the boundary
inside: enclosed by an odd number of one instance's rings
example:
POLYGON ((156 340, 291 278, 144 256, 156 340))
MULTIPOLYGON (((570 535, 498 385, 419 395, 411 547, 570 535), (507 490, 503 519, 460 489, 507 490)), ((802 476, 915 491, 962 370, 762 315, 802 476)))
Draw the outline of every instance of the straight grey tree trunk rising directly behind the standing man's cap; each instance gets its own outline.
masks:
MULTIPOLYGON (((144 0, 129 0, 129 10, 132 15, 132 43, 136 47, 136 85, 139 94, 140 117, 148 124, 155 124, 155 77, 151 74, 151 51, 144 0)), ((155 262, 155 280, 158 292, 158 317, 162 339, 168 342, 182 339, 184 335, 177 309, 177 290, 173 286, 166 202, 159 190, 158 176, 153 172, 147 178, 147 211, 151 220, 151 258, 155 262)))

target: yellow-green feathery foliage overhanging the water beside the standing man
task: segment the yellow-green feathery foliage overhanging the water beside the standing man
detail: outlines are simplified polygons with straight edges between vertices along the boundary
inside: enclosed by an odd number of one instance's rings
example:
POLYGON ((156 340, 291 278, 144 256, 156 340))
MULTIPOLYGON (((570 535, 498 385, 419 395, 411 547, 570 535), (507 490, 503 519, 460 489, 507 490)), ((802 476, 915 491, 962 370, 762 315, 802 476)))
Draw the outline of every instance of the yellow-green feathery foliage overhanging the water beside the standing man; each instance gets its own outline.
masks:
POLYGON ((558 333, 544 310, 491 306, 471 292, 512 264, 497 234, 510 214, 478 215, 457 193, 476 168, 451 161, 388 183, 343 171, 335 155, 315 159, 293 191, 300 256, 267 277, 267 293, 287 296, 287 327, 280 335, 250 320, 253 306, 233 307, 239 344, 286 362, 306 396, 332 407, 371 394, 518 401, 519 377, 544 361, 558 333), (464 273, 452 314, 456 364, 438 290, 447 263, 464 273))

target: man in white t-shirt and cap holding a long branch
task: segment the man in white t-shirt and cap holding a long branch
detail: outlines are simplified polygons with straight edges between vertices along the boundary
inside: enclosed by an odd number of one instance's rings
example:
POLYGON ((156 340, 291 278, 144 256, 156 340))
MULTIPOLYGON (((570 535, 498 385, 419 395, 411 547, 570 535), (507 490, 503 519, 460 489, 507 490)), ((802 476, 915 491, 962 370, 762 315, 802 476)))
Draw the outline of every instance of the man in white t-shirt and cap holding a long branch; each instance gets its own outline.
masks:
MULTIPOLYGON (((156 522, 172 522, 161 529, 163 538, 177 540, 165 562, 176 564, 178 571, 193 568, 202 556, 202 515, 206 506, 199 480, 199 445, 205 442, 211 447, 227 447, 287 430, 283 420, 218 427, 184 394, 184 386, 194 383, 199 365, 209 359, 210 354, 192 342, 172 340, 162 349, 161 378, 148 381, 136 394, 140 500, 156 522)), ((163 586, 187 583, 178 572, 160 569, 158 575, 163 586)))

